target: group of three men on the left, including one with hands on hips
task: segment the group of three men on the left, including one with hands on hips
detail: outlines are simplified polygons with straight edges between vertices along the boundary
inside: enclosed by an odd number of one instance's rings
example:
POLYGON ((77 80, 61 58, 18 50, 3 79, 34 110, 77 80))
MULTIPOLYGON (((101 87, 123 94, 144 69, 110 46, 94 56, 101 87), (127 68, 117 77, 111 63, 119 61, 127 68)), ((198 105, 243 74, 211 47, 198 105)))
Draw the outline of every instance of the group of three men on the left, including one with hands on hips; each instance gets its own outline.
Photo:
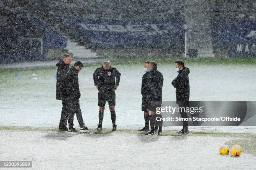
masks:
MULTIPOLYGON (((56 75, 56 99, 62 101, 59 131, 78 132, 73 127, 74 114, 76 114, 80 132, 91 132, 91 130, 84 125, 79 104, 81 94, 79 90, 78 72, 82 70, 84 66, 82 62, 77 61, 74 63, 73 67, 69 68, 71 60, 71 55, 64 54, 62 55, 62 59, 56 64, 58 67, 56 75), (67 120, 69 128, 67 128, 67 120)), ((98 106, 100 107, 97 130, 102 130, 103 113, 107 101, 111 112, 113 131, 116 130, 115 90, 118 88, 120 75, 120 72, 118 72, 116 68, 111 67, 109 61, 104 61, 102 67, 97 68, 93 74, 94 84, 98 90, 98 106)))

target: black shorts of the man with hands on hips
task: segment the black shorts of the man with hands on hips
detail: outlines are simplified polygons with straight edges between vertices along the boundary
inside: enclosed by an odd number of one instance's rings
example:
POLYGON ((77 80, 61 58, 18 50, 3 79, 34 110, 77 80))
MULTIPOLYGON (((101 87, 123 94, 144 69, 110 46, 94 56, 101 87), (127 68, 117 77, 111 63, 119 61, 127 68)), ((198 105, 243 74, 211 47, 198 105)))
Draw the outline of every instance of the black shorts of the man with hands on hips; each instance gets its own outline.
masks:
POLYGON ((109 106, 115 106, 115 91, 111 93, 98 93, 98 106, 104 107, 107 101, 109 106))

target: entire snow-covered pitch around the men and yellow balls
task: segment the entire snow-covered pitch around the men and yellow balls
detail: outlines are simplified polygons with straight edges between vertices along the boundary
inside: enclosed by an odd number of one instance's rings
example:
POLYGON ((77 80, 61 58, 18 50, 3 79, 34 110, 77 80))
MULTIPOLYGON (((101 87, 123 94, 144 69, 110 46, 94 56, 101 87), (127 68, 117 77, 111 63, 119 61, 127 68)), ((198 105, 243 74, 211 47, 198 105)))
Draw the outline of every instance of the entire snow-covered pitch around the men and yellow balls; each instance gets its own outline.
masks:
MULTIPOLYGON (((113 65, 121 72, 116 91, 118 131, 111 131, 108 106, 103 131, 97 133, 97 90, 92 73, 79 73, 80 105, 93 134, 59 133, 61 101, 55 100, 56 68, 0 70, 0 158, 32 161, 32 169, 256 169, 255 126, 164 127, 163 136, 138 132, 142 65, 113 65), (16 75, 16 76, 15 76, 16 75), (240 157, 219 155, 220 145, 241 145, 240 157), (181 160, 185 159, 184 163, 181 160)), ((255 65, 186 65, 191 70, 190 100, 256 100, 255 65)), ((175 100, 174 65, 159 64, 163 100, 175 100)), ((78 127, 77 120, 74 120, 78 127)))

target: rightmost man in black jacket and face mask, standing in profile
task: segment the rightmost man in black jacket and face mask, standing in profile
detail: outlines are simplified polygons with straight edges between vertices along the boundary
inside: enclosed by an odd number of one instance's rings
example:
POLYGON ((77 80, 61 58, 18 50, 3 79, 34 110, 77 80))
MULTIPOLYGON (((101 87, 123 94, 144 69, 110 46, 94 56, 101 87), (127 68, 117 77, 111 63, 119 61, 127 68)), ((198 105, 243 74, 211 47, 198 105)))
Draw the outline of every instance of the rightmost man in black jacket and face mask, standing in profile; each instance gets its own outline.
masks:
MULTIPOLYGON (((176 101, 179 107, 189 107, 189 68, 185 67, 184 61, 177 60, 175 62, 175 69, 179 73, 178 76, 172 80, 172 85, 176 88, 176 101)), ((180 112, 182 118, 187 118, 187 113, 180 112)), ((177 133, 189 133, 188 121, 182 121, 183 129, 177 133)))

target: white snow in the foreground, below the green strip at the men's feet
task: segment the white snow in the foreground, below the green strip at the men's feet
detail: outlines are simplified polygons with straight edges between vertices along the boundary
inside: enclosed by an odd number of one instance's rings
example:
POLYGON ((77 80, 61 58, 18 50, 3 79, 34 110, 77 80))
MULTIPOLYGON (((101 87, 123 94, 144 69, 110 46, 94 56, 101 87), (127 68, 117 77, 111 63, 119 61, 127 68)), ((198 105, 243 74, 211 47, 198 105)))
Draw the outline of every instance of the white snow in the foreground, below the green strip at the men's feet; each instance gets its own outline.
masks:
POLYGON ((35 170, 256 169, 251 154, 219 155, 230 137, 1 131, 0 139, 1 160, 32 161, 35 170))

